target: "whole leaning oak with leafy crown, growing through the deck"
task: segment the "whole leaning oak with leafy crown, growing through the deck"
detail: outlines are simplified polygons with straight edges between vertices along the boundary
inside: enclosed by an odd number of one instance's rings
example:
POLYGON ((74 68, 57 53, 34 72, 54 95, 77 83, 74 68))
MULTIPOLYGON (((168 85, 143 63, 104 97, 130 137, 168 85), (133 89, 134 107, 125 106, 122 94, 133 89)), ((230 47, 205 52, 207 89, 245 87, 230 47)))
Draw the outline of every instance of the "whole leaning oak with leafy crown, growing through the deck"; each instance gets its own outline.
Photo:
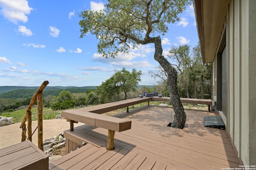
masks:
POLYGON ((186 114, 177 89, 177 72, 162 55, 160 35, 168 31, 167 23, 178 21, 189 0, 108 0, 101 11, 80 13, 80 37, 96 35, 98 53, 115 57, 128 53, 130 48, 154 43, 154 59, 168 74, 168 90, 174 108, 172 127, 183 129, 186 114))

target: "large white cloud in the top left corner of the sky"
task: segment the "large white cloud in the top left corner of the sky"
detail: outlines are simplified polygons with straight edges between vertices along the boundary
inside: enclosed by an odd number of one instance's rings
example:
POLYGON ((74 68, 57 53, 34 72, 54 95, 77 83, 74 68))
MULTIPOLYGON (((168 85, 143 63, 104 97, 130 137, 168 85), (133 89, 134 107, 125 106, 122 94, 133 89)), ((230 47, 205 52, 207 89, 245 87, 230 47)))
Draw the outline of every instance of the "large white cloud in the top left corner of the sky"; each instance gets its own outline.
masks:
POLYGON ((28 14, 33 8, 28 6, 26 0, 0 0, 0 14, 12 23, 18 24, 19 21, 26 23, 28 21, 28 14))

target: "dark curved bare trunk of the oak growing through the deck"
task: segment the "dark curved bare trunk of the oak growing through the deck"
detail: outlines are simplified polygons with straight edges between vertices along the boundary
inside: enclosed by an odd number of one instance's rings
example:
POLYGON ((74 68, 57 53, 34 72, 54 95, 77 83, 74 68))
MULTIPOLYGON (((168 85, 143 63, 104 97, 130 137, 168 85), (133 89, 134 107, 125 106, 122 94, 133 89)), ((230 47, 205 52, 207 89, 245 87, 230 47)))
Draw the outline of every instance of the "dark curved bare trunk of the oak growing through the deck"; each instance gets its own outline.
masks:
POLYGON ((170 94, 172 107, 174 109, 174 121, 171 127, 183 129, 186 123, 186 113, 180 100, 178 88, 177 88, 177 71, 169 63, 169 61, 162 55, 162 45, 160 36, 154 38, 155 53, 154 59, 164 68, 168 74, 167 86, 170 94))

